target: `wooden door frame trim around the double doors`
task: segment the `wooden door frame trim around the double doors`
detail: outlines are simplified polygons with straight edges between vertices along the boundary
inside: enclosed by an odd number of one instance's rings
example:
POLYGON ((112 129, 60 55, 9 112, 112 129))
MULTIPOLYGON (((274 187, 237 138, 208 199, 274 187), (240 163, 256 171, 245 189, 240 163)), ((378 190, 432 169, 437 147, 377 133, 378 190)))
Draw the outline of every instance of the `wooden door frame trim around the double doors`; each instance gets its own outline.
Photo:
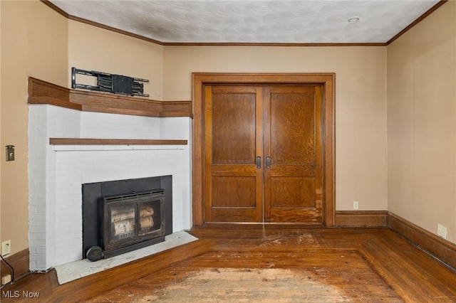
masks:
POLYGON ((322 86, 323 225, 332 227, 336 211, 336 73, 192 73, 192 220, 204 224, 204 85, 322 86))

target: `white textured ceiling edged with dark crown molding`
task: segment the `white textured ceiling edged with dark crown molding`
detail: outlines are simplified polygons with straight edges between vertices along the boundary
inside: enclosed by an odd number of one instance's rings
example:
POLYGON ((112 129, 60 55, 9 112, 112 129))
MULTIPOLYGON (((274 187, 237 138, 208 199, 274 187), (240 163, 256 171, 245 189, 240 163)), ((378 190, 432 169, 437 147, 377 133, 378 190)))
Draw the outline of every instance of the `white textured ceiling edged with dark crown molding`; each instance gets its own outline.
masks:
POLYGON ((68 15, 162 43, 386 43, 437 2, 51 0, 68 15))

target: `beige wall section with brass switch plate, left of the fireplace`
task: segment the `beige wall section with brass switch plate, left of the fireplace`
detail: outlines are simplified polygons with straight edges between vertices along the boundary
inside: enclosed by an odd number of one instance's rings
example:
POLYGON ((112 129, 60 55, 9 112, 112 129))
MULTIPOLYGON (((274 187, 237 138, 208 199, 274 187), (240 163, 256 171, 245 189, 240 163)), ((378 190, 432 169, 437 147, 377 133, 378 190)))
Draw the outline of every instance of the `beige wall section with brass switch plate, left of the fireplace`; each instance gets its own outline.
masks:
POLYGON ((67 83, 66 18, 39 1, 1 1, 1 241, 28 248, 27 78, 67 83), (16 147, 6 162, 5 146, 16 147))

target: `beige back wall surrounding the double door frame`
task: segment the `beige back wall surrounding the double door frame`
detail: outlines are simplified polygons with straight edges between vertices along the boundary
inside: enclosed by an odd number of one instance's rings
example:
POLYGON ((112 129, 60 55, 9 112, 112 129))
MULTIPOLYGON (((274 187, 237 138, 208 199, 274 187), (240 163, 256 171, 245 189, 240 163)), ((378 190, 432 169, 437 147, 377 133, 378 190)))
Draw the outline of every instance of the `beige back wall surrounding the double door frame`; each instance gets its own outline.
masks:
POLYGON ((385 47, 168 46, 164 100, 190 100, 192 72, 336 73, 336 210, 386 210, 385 47))

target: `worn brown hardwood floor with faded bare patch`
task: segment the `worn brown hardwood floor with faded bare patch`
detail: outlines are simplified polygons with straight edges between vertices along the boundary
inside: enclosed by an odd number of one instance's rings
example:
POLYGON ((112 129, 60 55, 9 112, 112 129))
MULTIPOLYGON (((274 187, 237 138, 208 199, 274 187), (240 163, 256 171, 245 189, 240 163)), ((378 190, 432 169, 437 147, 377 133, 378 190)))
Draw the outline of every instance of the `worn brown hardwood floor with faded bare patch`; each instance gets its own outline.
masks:
POLYGON ((64 285, 28 275, 1 302, 456 302, 455 271, 388 228, 190 233, 200 240, 64 285))

